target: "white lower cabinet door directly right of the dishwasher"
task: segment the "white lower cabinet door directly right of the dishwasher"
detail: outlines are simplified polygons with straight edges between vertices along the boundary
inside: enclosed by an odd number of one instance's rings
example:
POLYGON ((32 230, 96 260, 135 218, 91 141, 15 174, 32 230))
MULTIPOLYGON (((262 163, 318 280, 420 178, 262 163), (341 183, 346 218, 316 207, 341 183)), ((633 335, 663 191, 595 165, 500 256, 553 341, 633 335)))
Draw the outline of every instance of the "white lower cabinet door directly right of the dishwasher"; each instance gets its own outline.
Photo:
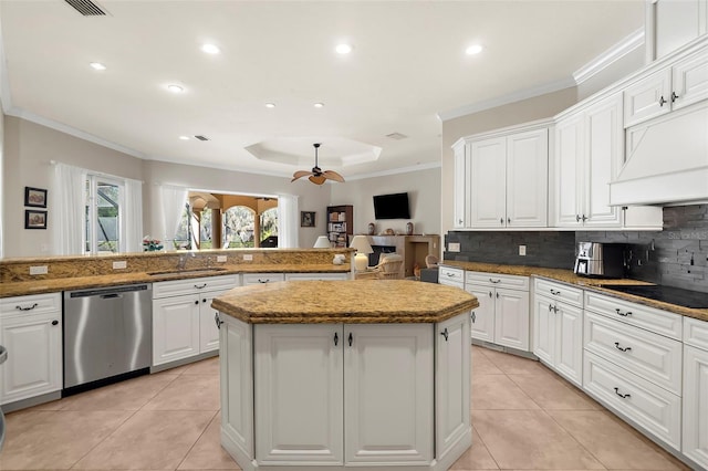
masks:
POLYGON ((153 366, 199 354, 199 304, 196 294, 153 300, 153 366))

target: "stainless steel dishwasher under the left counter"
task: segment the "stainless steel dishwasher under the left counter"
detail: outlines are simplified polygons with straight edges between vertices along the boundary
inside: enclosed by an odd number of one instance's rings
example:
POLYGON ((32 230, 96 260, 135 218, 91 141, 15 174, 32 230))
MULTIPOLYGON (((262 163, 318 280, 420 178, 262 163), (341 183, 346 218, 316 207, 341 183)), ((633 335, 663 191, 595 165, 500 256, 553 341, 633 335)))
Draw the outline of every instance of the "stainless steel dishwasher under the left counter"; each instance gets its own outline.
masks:
POLYGON ((152 284, 64 292, 64 395, 148 373, 152 284))

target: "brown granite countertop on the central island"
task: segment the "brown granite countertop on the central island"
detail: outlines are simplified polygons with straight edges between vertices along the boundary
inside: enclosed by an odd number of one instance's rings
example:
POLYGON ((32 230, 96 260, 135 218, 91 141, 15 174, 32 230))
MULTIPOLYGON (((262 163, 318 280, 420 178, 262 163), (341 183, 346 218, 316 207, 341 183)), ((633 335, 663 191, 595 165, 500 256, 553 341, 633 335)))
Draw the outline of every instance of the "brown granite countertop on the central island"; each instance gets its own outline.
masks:
POLYGON ((240 286, 211 306, 250 324, 436 323, 479 306, 451 286, 409 280, 295 281, 240 286))

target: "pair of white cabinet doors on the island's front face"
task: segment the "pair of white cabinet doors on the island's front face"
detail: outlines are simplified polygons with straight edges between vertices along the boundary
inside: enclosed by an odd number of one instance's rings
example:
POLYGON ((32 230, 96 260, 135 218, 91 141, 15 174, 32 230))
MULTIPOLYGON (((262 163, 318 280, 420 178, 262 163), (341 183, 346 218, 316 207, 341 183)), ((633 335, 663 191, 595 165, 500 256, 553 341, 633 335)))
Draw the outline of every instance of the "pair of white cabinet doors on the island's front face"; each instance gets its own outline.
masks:
POLYGON ((257 461, 430 462, 431 337, 429 325, 256 326, 257 461))

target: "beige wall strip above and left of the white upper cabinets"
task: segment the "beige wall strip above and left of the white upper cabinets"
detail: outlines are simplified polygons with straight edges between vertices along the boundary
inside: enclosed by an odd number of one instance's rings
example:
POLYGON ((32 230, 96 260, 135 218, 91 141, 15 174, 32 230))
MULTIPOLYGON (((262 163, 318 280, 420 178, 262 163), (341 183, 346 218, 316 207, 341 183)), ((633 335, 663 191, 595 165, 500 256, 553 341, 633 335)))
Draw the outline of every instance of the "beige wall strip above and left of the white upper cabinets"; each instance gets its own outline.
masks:
POLYGON ((445 234, 452 229, 454 161, 451 146, 457 139, 516 124, 549 118, 574 105, 576 101, 576 90, 571 87, 444 122, 440 197, 441 233, 445 234))

